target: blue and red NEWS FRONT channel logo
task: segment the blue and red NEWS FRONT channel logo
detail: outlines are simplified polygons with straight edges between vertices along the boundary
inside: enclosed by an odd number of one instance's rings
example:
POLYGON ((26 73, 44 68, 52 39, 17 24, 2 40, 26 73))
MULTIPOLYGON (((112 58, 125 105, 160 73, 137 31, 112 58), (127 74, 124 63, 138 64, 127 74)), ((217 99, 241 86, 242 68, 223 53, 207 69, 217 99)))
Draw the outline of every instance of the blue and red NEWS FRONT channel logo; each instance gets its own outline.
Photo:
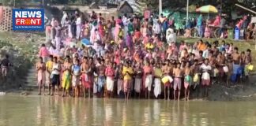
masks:
POLYGON ((14 31, 43 31, 44 9, 13 9, 14 31))

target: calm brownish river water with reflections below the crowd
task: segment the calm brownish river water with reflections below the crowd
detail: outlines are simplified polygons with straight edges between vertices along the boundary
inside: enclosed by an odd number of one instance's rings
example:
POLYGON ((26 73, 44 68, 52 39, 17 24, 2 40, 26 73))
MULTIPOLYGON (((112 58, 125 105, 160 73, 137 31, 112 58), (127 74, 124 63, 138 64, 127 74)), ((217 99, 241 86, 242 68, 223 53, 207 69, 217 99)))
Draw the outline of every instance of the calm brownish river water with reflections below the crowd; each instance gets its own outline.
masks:
POLYGON ((256 125, 256 102, 0 96, 0 125, 256 125))

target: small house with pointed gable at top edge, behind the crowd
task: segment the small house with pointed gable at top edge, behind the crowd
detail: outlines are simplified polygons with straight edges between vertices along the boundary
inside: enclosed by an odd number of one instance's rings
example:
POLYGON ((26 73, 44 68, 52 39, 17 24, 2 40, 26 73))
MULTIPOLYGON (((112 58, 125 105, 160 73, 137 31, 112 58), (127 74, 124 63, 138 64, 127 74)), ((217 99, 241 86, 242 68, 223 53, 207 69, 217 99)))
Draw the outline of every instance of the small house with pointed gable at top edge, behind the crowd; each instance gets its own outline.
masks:
POLYGON ((117 7, 117 12, 119 16, 123 16, 125 13, 127 16, 131 16, 134 13, 134 9, 130 6, 130 4, 126 1, 120 2, 119 6, 117 7))

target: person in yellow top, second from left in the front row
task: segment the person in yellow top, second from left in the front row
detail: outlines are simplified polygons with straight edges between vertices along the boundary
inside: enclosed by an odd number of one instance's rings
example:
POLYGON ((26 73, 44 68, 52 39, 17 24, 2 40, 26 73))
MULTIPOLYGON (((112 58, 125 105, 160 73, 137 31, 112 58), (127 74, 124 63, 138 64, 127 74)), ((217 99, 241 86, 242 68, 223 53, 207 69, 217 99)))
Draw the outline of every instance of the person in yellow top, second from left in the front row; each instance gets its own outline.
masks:
POLYGON ((49 85, 49 94, 48 95, 51 95, 51 82, 50 82, 50 76, 51 76, 51 72, 52 72, 52 68, 53 68, 53 56, 50 55, 50 60, 47 61, 46 63, 46 82, 48 85, 49 85))

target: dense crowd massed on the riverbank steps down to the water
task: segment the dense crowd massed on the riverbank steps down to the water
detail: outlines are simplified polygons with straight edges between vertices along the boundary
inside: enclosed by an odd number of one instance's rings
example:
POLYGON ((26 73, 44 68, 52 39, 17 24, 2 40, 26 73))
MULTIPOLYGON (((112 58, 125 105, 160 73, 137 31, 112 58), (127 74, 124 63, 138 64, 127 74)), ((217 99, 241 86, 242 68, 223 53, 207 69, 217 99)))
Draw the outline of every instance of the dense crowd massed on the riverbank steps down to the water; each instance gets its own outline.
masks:
POLYGON ((253 69, 250 49, 225 41, 176 42, 167 18, 136 15, 104 19, 64 13, 47 25, 38 72, 39 95, 190 99, 213 83, 229 86, 253 69), (88 40, 89 43, 81 43, 88 40), (181 95, 181 93, 183 93, 181 95), (153 96, 153 97, 152 97, 153 96))

